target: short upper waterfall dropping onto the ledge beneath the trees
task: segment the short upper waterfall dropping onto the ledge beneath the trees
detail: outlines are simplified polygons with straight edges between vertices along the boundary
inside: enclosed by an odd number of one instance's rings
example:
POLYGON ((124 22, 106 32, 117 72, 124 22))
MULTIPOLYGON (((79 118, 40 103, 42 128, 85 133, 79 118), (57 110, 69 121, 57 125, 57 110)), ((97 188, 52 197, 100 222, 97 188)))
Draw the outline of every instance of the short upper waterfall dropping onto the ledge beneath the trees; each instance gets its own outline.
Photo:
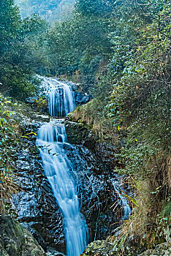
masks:
POLYGON ((64 117, 75 109, 72 89, 56 78, 43 78, 42 88, 48 97, 50 116, 64 117))

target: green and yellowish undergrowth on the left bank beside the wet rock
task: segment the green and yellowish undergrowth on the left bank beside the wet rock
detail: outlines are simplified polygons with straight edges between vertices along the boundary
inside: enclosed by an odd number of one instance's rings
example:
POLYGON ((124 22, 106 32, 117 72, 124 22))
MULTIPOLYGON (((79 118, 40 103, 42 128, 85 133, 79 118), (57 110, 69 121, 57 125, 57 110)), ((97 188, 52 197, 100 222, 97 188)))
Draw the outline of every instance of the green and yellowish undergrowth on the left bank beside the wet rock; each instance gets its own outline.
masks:
POLYGON ((22 148, 20 121, 30 109, 23 102, 0 94, 0 214, 15 215, 11 208, 12 195, 20 190, 15 171, 15 154, 22 148))

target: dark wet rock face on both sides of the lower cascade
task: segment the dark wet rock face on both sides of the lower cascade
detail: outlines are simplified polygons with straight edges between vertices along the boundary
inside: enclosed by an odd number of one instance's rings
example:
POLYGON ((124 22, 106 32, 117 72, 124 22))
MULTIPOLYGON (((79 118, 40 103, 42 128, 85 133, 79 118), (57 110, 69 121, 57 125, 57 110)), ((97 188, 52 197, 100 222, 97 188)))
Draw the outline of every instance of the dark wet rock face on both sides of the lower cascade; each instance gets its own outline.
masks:
MULTIPOLYGON (((80 94, 77 95, 75 99, 80 97, 80 94)), ((79 102, 84 100, 82 96, 79 102)), ((34 107, 34 101, 27 99, 26 102, 34 107)), ((18 153, 12 162, 20 192, 13 196, 12 207, 20 224, 34 236, 42 250, 52 255, 65 255, 63 214, 45 176, 36 145, 37 130, 49 120, 47 114, 32 110, 28 118, 20 121, 23 145, 18 146, 18 153)), ((64 144, 64 149, 74 169, 80 211, 86 218, 89 242, 105 239, 118 227, 121 219, 121 205, 113 211, 113 204, 119 200, 113 187, 113 181, 118 176, 111 173, 113 157, 107 159, 107 154, 114 155, 114 151, 104 145, 95 146, 96 138, 82 124, 67 118, 63 122, 69 143, 64 144), (94 151, 94 148, 103 149, 94 151)))

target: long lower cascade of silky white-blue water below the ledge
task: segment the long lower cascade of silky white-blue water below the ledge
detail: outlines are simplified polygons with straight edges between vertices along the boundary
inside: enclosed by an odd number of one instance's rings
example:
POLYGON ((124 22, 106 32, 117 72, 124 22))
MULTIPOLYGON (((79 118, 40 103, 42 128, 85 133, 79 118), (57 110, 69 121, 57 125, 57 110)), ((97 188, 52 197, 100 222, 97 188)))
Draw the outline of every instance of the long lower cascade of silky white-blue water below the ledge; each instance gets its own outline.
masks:
POLYGON ((67 256, 78 256, 87 246, 88 227, 80 213, 77 184, 72 176, 72 164, 64 150, 66 132, 61 121, 51 121, 40 127, 37 146, 45 175, 64 214, 67 256))

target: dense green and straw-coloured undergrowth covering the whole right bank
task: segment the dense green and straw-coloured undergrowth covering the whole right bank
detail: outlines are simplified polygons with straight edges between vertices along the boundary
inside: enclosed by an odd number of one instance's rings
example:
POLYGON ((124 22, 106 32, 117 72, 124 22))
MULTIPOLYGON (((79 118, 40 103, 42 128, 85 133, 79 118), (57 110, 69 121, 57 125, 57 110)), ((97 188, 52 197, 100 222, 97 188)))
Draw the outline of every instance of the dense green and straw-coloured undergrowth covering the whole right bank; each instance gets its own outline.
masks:
POLYGON ((127 199, 134 208, 113 241, 118 255, 128 255, 129 238, 137 252, 170 242, 170 6, 156 1, 155 8, 157 15, 151 14, 151 23, 137 28, 140 34, 124 60, 118 38, 113 70, 104 78, 113 87, 111 98, 111 87, 103 94, 105 83, 99 81, 96 99, 72 113, 101 141, 108 136, 107 142, 120 142, 120 153, 115 154, 120 165, 113 171, 133 177, 135 200, 127 199))

